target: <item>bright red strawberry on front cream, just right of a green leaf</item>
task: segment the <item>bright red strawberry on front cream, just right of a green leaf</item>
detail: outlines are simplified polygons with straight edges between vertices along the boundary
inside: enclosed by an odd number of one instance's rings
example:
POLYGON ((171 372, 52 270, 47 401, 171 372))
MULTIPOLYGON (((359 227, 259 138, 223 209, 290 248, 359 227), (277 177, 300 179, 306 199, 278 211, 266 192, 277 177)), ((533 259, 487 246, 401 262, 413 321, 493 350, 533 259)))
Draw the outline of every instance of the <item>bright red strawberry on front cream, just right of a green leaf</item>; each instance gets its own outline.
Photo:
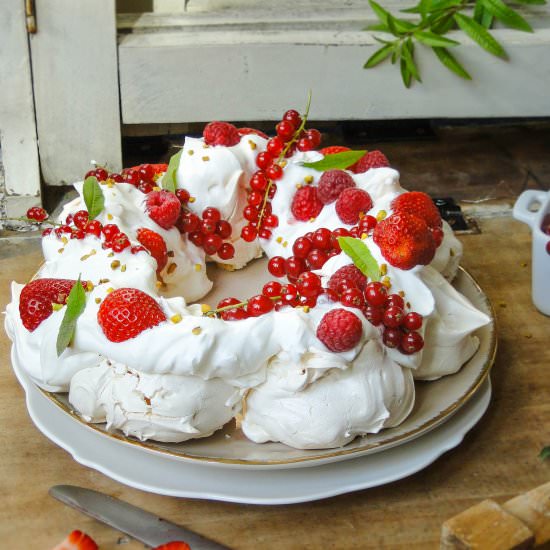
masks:
POLYGON ((101 303, 97 322, 111 342, 125 342, 166 321, 158 303, 137 288, 113 290, 101 303))

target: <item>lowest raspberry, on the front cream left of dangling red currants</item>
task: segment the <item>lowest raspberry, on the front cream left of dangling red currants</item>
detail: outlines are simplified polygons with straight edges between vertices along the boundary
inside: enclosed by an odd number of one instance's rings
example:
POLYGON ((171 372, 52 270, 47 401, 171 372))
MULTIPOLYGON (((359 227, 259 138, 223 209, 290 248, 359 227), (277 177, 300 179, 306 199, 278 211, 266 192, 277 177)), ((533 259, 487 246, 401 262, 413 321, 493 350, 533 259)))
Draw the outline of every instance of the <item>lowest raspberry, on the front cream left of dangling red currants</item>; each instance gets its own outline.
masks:
POLYGON ((357 315, 346 309, 329 311, 317 327, 317 338, 330 351, 347 351, 361 340, 363 324, 357 315))

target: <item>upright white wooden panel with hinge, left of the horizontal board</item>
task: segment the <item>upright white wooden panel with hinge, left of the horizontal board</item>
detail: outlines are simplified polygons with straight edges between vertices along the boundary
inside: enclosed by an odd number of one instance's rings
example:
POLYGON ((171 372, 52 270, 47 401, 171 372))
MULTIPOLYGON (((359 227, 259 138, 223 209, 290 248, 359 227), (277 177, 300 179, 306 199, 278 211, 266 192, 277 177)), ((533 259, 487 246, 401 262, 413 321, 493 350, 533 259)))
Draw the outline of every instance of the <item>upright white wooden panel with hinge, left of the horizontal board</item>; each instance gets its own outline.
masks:
POLYGON ((114 0, 37 1, 36 10, 31 57, 44 180, 71 183, 92 159, 120 169, 114 0))

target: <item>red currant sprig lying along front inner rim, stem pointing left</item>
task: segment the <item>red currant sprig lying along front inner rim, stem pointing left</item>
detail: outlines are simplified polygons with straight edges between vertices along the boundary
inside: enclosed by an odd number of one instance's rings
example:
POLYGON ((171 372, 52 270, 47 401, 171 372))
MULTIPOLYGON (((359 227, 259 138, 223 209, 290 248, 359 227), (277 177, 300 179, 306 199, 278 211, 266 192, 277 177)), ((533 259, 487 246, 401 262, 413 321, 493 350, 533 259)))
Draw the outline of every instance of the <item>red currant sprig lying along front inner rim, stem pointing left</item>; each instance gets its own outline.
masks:
POLYGON ((248 317, 259 317, 272 310, 290 307, 315 307, 317 297, 324 292, 321 279, 315 273, 302 273, 296 284, 282 285, 278 281, 266 283, 261 294, 248 300, 224 298, 208 315, 219 315, 225 321, 238 321, 248 317))

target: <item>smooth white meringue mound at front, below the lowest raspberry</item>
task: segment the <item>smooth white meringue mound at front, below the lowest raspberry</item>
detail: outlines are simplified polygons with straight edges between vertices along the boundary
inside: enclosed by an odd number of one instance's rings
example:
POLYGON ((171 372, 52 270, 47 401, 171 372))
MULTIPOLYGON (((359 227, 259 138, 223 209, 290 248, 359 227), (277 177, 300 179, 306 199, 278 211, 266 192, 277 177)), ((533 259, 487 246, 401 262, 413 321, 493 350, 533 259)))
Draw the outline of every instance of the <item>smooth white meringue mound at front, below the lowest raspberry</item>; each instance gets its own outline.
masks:
POLYGON ((353 363, 330 353, 306 354, 297 363, 271 361, 265 383, 246 398, 242 430, 256 443, 340 447, 399 424, 413 405, 411 371, 371 340, 353 363))

